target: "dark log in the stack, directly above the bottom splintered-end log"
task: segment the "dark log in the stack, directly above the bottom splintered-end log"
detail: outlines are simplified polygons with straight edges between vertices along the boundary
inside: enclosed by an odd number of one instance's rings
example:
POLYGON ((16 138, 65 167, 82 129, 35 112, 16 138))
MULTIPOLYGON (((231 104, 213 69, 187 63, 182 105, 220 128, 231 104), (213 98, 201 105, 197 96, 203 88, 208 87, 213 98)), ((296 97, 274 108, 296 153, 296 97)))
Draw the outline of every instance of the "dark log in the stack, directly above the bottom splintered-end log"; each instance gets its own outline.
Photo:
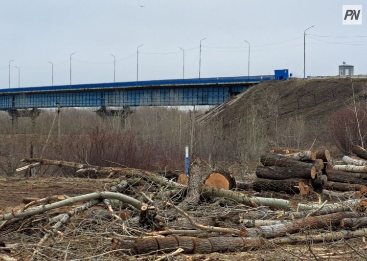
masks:
POLYGON ((304 178, 313 179, 316 177, 314 166, 305 167, 260 167, 256 168, 256 176, 268 179, 289 179, 304 178))

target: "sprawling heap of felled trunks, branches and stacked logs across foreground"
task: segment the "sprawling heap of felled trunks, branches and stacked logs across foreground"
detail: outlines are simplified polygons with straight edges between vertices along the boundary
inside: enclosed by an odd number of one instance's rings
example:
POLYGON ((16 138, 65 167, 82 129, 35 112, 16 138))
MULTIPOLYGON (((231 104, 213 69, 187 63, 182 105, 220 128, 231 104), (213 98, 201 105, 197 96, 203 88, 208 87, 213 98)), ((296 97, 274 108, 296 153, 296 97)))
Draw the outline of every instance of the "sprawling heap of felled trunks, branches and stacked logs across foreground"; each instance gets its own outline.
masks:
MULTIPOLYGON (((109 175, 115 183, 86 195, 25 198, 21 208, 0 215, 0 251, 6 250, 9 260, 190 260, 187 254, 367 236, 363 194, 324 190, 327 200, 316 202, 297 196, 328 188, 326 176, 341 172, 326 172, 325 165, 331 166, 324 163, 330 162, 327 151, 275 152, 261 156, 263 166, 247 185, 294 194, 290 199, 241 192, 238 186, 244 183, 236 184, 233 174, 224 169, 206 173, 200 159, 191 164, 186 179, 175 172, 168 179, 164 172, 24 158, 28 165, 20 171, 51 165, 74 168, 76 174, 109 175), (76 249, 85 251, 75 254, 76 249)), ((345 173, 350 180, 365 180, 363 173, 345 173)))

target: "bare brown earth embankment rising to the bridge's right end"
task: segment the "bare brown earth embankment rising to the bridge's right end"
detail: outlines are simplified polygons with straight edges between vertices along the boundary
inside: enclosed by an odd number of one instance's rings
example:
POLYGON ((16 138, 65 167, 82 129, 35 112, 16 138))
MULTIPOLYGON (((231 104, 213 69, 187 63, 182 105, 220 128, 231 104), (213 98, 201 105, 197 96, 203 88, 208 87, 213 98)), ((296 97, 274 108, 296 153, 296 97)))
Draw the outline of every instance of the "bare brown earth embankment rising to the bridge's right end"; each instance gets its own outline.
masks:
MULTIPOLYGON (((365 101, 367 79, 353 79, 354 93, 360 101, 365 101)), ((215 121, 223 123, 227 130, 238 125, 256 110, 256 117, 268 117, 277 112, 280 122, 296 115, 304 120, 316 138, 318 146, 330 146, 330 116, 351 101, 352 82, 350 79, 319 79, 263 82, 240 93, 230 101, 198 117, 199 123, 215 121)))

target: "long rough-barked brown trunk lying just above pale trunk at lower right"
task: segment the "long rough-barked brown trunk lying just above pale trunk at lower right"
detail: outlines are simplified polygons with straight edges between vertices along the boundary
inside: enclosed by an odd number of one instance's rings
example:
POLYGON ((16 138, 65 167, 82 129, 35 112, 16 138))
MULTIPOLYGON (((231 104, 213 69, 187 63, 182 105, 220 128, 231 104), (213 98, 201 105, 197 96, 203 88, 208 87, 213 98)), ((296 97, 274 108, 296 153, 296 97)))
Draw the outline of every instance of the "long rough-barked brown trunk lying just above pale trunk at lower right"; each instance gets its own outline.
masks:
POLYGON ((243 233, 248 237, 254 238, 275 238, 307 229, 318 229, 330 227, 331 225, 339 225, 342 218, 360 218, 361 216, 361 213, 337 212, 317 217, 300 218, 288 221, 284 224, 247 228, 243 229, 243 233))

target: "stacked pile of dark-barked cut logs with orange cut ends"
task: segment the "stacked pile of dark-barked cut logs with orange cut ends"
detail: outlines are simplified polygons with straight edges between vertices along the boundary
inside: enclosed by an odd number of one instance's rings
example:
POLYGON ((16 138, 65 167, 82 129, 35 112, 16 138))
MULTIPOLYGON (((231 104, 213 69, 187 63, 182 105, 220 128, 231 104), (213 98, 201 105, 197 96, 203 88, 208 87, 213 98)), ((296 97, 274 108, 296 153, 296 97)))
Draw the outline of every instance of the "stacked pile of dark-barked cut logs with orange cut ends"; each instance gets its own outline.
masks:
POLYGON ((271 148, 271 153, 261 155, 261 166, 256 168, 256 178, 251 184, 237 183, 242 190, 309 194, 321 192, 327 177, 331 156, 328 150, 302 151, 293 148, 271 148))

